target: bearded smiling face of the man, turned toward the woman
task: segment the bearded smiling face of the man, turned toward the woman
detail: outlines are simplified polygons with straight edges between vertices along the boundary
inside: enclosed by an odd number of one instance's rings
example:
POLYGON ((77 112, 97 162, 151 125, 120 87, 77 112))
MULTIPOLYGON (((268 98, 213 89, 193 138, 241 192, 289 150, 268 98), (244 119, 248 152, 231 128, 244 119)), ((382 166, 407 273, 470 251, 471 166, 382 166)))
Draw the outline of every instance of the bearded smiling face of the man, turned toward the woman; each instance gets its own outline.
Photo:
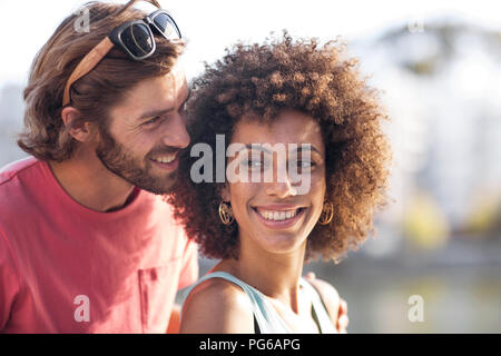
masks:
POLYGON ((96 154, 102 165, 141 189, 168 194, 178 152, 189 145, 184 117, 188 93, 178 65, 167 76, 134 87, 100 129, 96 154))

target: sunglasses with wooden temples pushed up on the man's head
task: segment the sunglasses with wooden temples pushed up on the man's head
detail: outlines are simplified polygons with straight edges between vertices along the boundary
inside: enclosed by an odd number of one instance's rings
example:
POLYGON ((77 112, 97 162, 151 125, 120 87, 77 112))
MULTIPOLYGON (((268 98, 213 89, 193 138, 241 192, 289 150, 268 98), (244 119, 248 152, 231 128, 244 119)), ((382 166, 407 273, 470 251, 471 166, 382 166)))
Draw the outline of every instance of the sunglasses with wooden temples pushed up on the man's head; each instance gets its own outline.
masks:
MULTIPOLYGON (((130 1, 121 11, 129 8, 134 2, 130 1)), ((159 8, 156 1, 151 3, 159 8)), ((143 20, 127 21, 116 27, 75 68, 65 87, 62 107, 70 103, 69 91, 73 82, 90 72, 114 46, 124 51, 132 60, 144 60, 153 56, 157 49, 154 32, 169 41, 181 39, 181 33, 173 17, 166 10, 161 9, 148 14, 143 20)))

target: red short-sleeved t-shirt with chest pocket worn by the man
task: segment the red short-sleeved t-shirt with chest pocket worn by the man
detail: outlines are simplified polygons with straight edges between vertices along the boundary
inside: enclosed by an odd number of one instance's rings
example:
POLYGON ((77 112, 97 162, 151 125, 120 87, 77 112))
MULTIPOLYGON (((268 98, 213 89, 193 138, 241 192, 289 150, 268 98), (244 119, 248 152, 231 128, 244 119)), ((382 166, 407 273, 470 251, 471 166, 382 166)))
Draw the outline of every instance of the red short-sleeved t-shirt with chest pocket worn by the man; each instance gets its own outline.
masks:
POLYGON ((165 333, 197 248, 160 196, 98 212, 49 165, 0 170, 0 333, 165 333))

